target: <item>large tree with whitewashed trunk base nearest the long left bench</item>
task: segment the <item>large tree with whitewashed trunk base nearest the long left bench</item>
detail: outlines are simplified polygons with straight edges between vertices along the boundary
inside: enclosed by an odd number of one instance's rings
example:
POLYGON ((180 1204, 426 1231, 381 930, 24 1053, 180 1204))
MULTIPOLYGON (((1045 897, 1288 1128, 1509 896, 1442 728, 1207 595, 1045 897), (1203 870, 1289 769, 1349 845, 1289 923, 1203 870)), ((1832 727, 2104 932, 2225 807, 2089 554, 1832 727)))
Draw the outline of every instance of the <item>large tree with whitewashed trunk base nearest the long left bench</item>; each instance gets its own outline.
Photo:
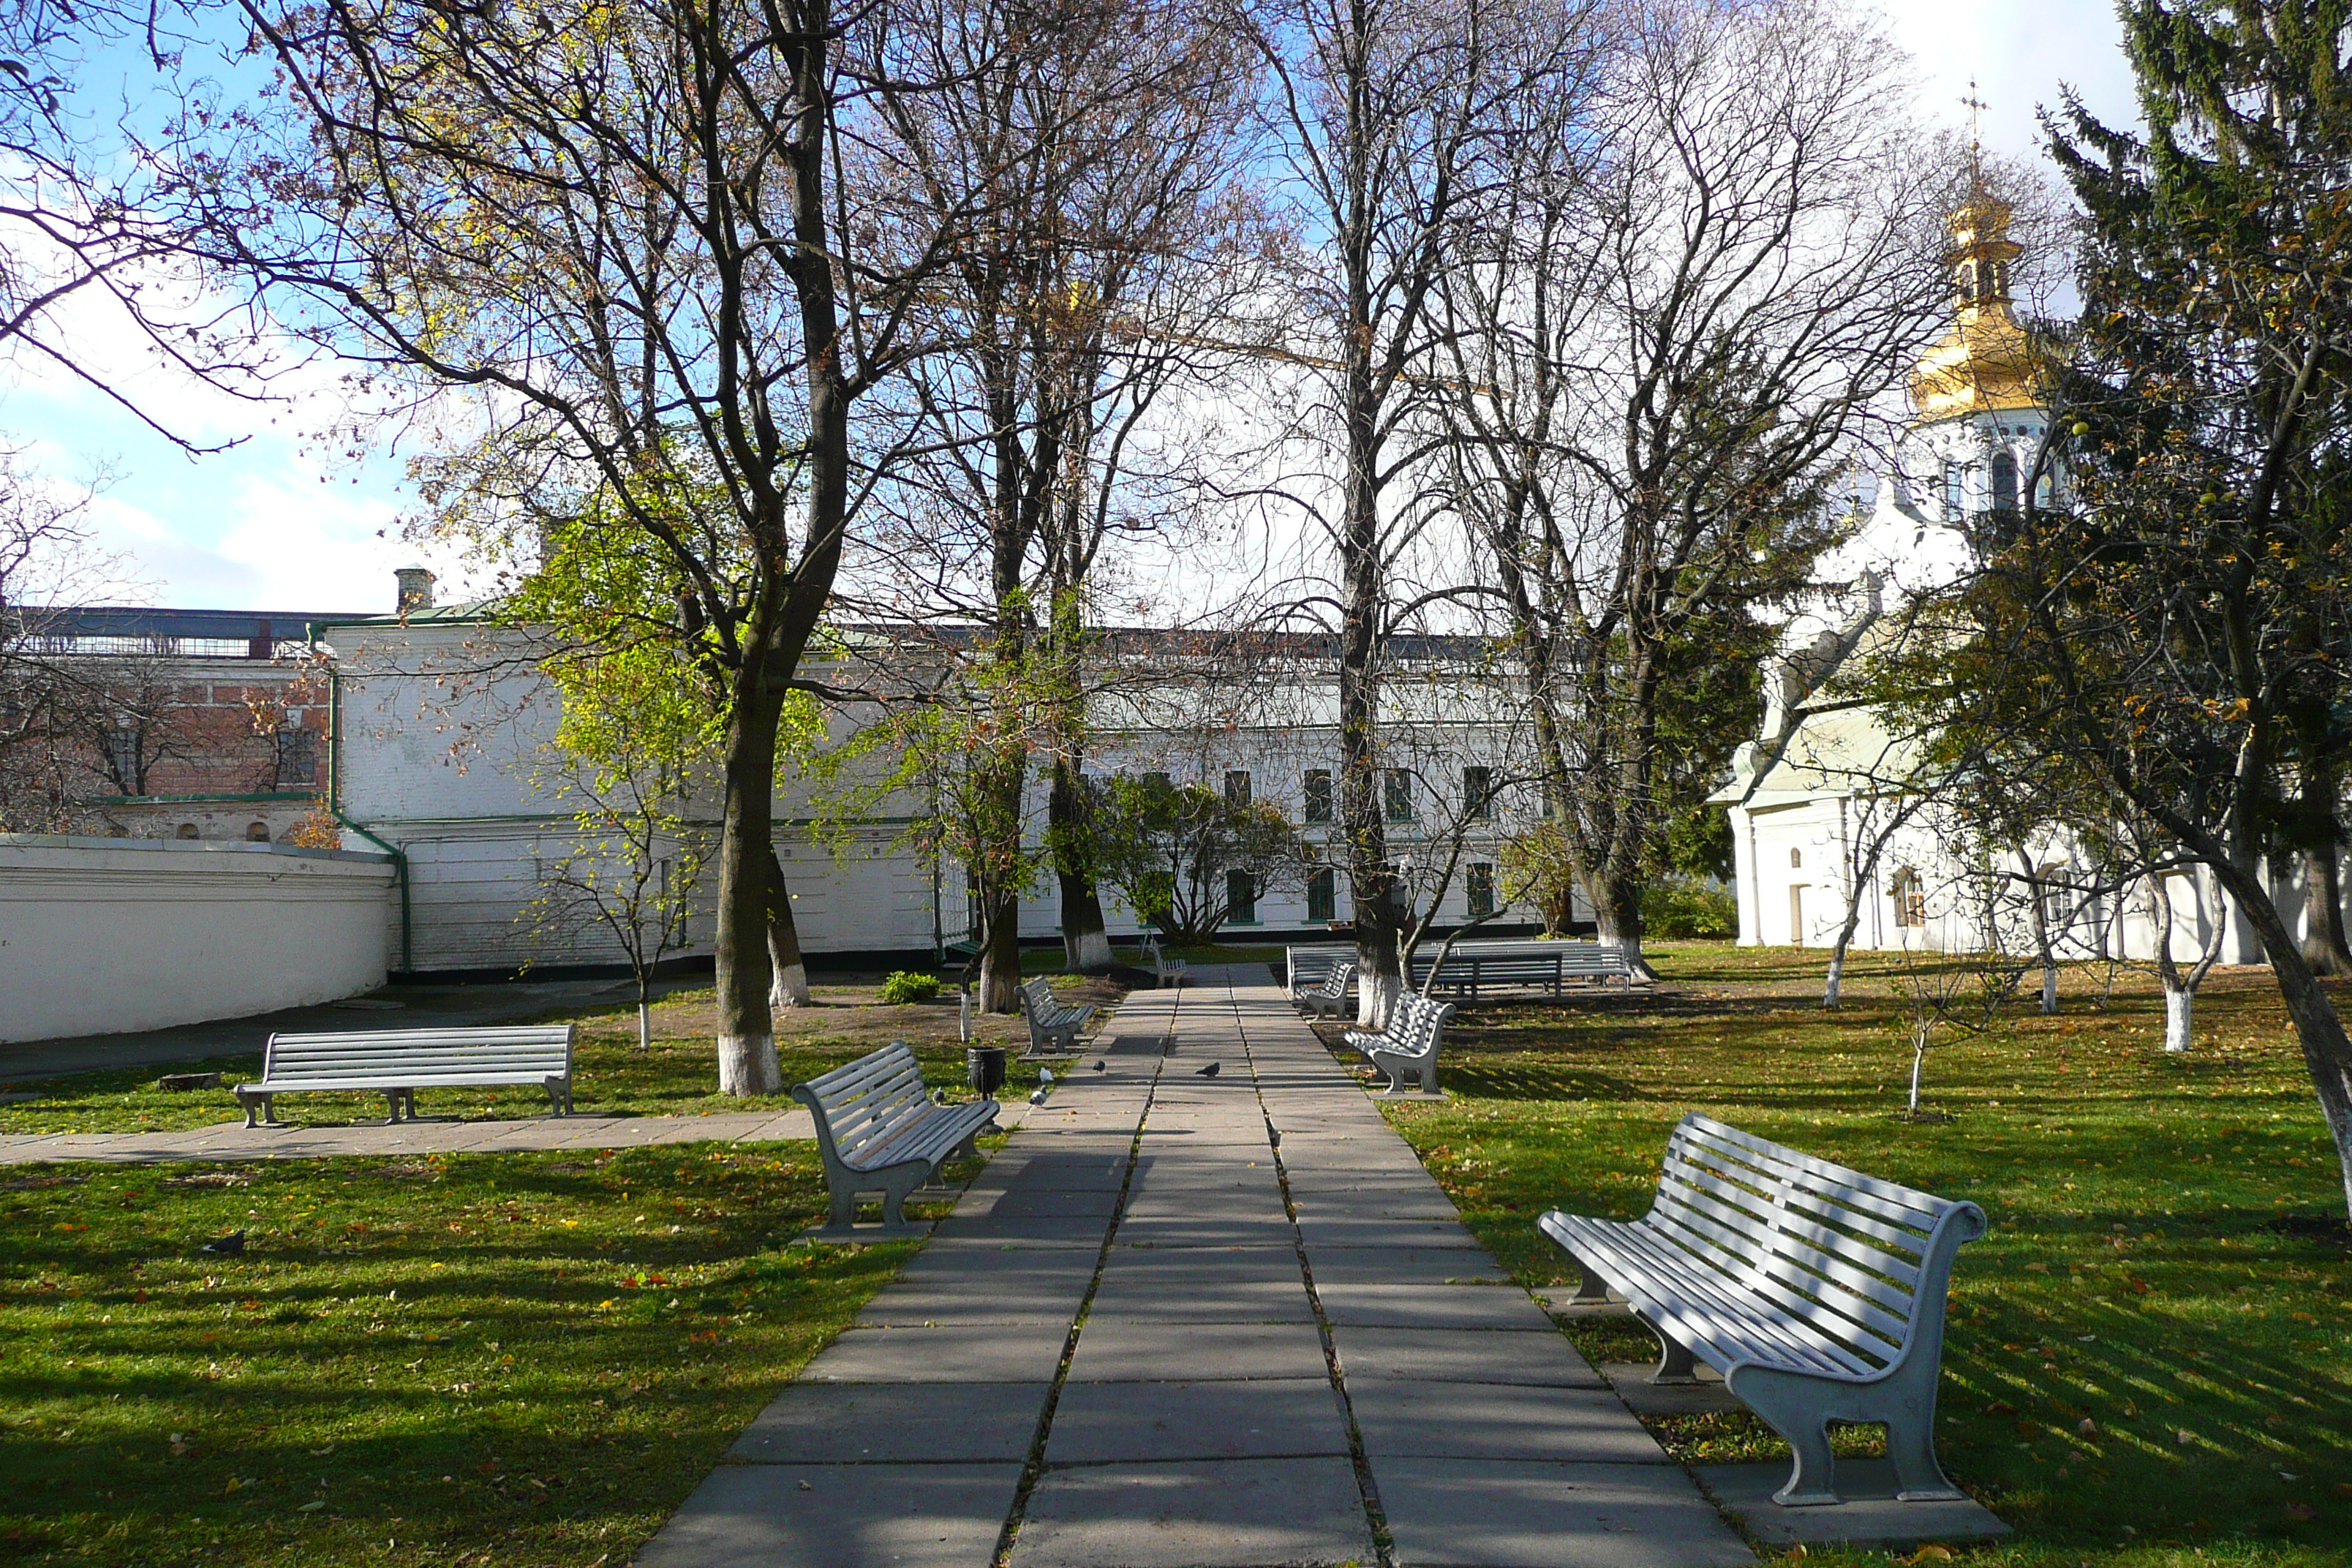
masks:
POLYGON ((687 581, 677 635, 727 686, 720 1086, 771 1093, 781 708, 894 447, 851 409, 913 353, 922 282, 985 228, 990 193, 884 228, 835 181, 861 167, 882 82, 858 71, 889 9, 240 14, 278 92, 165 148, 195 254, 414 407, 470 393, 461 418, 492 454, 475 517, 597 494, 687 581))

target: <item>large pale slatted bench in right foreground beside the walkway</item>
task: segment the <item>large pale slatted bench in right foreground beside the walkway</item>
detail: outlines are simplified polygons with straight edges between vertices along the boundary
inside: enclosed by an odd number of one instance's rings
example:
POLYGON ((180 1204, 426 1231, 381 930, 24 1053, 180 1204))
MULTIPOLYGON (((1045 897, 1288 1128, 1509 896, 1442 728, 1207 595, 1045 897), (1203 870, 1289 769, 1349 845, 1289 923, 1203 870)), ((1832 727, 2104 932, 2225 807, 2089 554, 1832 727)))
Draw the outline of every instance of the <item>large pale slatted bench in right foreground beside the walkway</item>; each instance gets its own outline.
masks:
POLYGON ((1936 1375, 1952 1255, 1985 1211, 1832 1166, 1710 1117, 1665 1145, 1632 1222, 1545 1213, 1583 1269, 1578 1302, 1613 1288, 1658 1335, 1651 1382, 1724 1375, 1795 1450, 1783 1507, 1837 1502, 1828 1422, 1884 1422, 1903 1500, 1957 1500, 1936 1465, 1936 1375))

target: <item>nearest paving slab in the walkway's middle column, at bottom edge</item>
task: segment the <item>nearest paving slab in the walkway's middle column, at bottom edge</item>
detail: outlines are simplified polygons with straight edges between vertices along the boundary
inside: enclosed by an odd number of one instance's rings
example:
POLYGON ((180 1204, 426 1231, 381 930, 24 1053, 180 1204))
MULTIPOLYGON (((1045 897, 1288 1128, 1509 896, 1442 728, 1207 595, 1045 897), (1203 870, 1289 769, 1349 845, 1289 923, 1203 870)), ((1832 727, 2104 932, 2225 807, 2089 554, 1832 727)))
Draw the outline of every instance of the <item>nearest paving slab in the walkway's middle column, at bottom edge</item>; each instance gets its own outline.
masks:
POLYGON ((1338 1568, 1371 1563, 1343 1458, 1089 1465, 1030 1493, 1011 1568, 1338 1568))

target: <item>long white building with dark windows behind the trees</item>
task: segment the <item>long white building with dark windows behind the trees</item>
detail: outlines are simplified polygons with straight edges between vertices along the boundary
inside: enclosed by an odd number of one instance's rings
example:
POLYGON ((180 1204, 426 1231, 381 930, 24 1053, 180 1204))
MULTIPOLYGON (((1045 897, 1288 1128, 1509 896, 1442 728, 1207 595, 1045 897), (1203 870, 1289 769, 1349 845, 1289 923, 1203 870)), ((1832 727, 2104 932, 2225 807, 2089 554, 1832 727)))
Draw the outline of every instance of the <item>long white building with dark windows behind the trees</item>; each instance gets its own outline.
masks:
MULTIPOLYGON (((414 585, 412 585, 414 588, 414 585)), ((400 900, 386 933, 388 966, 402 973, 536 973, 607 966, 623 959, 607 933, 581 926, 548 931, 529 910, 543 867, 579 849, 574 809, 560 795, 553 736, 555 686, 541 675, 532 635, 477 607, 341 621, 320 628, 332 649, 327 792, 346 827, 346 846, 390 851, 400 900)), ((1148 651, 1162 675, 1096 701, 1096 757, 1087 771, 1164 771, 1176 783, 1244 790, 1275 802, 1329 839, 1338 766, 1331 661, 1310 644, 1270 644, 1242 675, 1209 663, 1216 679, 1183 679, 1183 654, 1155 632, 1112 639, 1148 651), (1150 644, 1160 646, 1150 646, 1150 644)), ((1399 649, 1390 682, 1385 733, 1399 748, 1388 780, 1392 853, 1428 879, 1442 856, 1439 825, 1463 790, 1501 785, 1508 769, 1505 693, 1465 675, 1468 661, 1444 644, 1399 649), (1444 677, 1432 670, 1444 668, 1444 677), (1484 773, 1479 773, 1484 769, 1484 773)), ((828 719, 835 741, 856 726, 854 710, 828 719)), ((1030 820, 1044 830, 1047 778, 1033 769, 1030 820)), ((1512 825, 1515 790, 1465 835, 1465 853, 1437 910, 1439 926, 1486 914, 1498 898, 1498 844, 1512 825)), ((818 966, 931 964, 943 943, 964 936, 969 903, 957 867, 934 867, 908 846, 908 827, 929 811, 917 790, 891 795, 818 844, 809 795, 779 790, 776 853, 793 891, 802 950, 818 966)), ((687 806, 715 825, 717 792, 687 806)), ((708 957, 710 914, 689 922, 684 957, 708 957)), ((1138 929, 1103 891, 1115 938, 1138 929)), ((1251 900, 1228 922, 1235 943, 1324 933, 1350 919, 1343 872, 1301 877, 1251 900)), ((1501 910, 1486 929, 1524 931, 1531 907, 1501 910)), ((1058 886, 1037 879, 1021 900, 1021 936, 1061 936, 1058 886)))

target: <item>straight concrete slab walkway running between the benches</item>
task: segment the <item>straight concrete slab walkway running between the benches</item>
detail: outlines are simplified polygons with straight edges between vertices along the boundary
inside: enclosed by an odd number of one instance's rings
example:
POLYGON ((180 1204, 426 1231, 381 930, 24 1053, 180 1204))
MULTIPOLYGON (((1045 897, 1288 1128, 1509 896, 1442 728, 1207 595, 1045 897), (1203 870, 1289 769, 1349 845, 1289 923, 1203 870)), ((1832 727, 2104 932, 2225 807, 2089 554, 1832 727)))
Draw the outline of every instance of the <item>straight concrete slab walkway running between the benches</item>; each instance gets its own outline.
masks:
POLYGON ((1098 1056, 644 1568, 1755 1561, 1263 969, 1098 1056))

